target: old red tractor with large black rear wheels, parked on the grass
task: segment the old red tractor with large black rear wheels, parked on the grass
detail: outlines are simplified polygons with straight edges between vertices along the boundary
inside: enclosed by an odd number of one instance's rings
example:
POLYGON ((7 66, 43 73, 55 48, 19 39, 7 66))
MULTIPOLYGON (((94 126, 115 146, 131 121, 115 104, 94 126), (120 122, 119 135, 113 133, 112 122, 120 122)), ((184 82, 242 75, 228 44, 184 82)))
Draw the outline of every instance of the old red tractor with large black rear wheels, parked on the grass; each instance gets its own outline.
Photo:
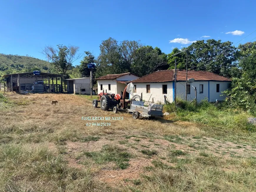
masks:
POLYGON ((126 110, 128 108, 128 104, 131 103, 131 101, 125 101, 125 94, 126 94, 127 86, 124 88, 124 96, 121 94, 112 94, 112 93, 99 93, 99 100, 94 99, 92 101, 92 106, 97 107, 98 102, 100 102, 100 108, 102 110, 109 110, 112 109, 114 113, 117 113, 119 110, 126 110))

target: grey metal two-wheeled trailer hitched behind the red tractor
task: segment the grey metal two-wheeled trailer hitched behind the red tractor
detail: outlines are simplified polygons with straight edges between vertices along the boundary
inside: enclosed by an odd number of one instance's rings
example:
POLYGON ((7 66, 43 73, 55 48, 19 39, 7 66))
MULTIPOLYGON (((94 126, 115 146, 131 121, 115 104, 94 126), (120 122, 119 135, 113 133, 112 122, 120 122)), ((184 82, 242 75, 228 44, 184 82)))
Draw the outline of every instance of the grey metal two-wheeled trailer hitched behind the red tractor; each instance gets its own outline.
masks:
POLYGON ((155 117, 163 117, 163 105, 154 104, 151 108, 143 106, 142 101, 132 101, 128 111, 132 113, 132 118, 138 119, 139 116, 154 119, 155 117))

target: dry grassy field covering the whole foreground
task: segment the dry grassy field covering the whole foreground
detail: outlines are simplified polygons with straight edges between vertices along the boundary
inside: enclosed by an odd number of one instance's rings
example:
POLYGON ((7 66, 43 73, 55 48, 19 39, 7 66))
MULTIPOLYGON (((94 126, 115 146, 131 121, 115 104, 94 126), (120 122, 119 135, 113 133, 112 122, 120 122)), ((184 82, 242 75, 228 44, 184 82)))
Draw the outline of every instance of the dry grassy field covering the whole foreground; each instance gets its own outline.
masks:
POLYGON ((15 104, 0 110, 0 191, 256 190, 255 134, 170 117, 133 120, 84 96, 6 95, 15 104), (92 122, 111 126, 86 126, 92 122))

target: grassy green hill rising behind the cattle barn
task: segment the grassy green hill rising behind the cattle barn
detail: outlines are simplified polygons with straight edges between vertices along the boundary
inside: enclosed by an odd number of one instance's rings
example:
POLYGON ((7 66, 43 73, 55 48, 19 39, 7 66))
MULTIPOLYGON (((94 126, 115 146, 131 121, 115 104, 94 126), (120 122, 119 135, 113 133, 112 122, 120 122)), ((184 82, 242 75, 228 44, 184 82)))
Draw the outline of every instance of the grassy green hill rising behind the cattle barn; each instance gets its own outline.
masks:
POLYGON ((35 70, 47 72, 47 66, 47 61, 34 57, 0 54, 0 75, 35 70))

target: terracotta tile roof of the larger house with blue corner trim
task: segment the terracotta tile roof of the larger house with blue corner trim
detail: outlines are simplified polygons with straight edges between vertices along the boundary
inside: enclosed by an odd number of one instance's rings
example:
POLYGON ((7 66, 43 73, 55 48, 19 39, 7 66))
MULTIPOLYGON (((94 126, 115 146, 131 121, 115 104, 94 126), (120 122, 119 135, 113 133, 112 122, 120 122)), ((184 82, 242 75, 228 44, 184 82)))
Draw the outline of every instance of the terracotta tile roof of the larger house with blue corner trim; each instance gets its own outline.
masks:
MULTIPOLYGON (((231 81, 231 79, 224 76, 217 75, 208 71, 188 71, 187 78, 194 78, 195 81, 231 81)), ((169 82, 174 81, 174 69, 156 71, 151 74, 140 77, 132 83, 158 83, 158 82, 169 82)), ((186 70, 177 69, 177 81, 186 81, 186 70)))

